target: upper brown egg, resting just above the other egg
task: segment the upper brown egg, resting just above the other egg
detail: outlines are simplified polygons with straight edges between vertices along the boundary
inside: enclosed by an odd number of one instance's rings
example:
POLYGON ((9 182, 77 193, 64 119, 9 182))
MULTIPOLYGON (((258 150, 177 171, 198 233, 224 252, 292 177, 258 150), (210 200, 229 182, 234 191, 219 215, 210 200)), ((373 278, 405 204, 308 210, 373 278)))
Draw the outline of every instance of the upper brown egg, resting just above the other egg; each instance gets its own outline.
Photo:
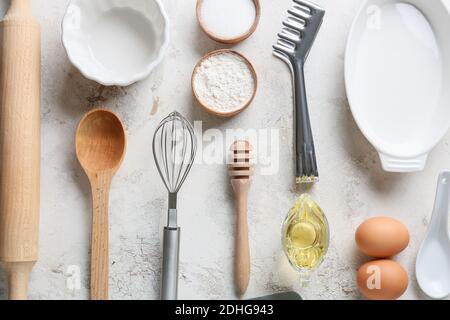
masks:
POLYGON ((409 243, 404 224, 387 217, 370 218, 356 230, 356 244, 370 257, 388 258, 403 251, 409 243))

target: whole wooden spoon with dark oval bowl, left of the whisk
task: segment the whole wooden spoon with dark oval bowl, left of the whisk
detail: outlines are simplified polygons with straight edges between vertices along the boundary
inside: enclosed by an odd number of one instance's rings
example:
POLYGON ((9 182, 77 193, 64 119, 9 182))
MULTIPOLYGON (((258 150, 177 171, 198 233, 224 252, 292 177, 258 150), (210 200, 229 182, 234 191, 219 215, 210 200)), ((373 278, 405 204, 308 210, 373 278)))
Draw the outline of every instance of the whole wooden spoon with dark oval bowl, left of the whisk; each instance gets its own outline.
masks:
POLYGON ((108 299, 108 196, 112 178, 125 155, 126 137, 111 111, 87 113, 77 128, 76 153, 92 188, 91 299, 108 299))

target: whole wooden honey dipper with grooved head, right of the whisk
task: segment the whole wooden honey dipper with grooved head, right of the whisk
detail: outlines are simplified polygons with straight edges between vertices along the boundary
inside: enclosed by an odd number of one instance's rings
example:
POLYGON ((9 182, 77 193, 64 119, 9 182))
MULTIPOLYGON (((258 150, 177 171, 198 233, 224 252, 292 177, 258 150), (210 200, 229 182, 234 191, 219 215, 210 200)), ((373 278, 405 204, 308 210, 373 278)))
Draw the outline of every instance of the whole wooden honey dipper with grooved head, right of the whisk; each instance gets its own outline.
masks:
POLYGON ((236 141, 231 146, 232 163, 229 165, 231 185, 236 207, 236 240, 234 272, 236 289, 242 296, 250 279, 250 248, 248 244, 247 199, 250 177, 253 169, 250 164, 252 146, 248 141, 236 141))

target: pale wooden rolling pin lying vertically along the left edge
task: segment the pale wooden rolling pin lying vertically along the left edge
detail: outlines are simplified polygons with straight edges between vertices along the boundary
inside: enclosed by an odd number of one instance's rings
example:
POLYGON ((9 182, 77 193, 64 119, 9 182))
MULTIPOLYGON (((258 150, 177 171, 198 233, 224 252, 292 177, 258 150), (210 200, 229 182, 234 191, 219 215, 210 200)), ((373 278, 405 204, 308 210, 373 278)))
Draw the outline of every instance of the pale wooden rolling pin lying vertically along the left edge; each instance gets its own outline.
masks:
POLYGON ((40 27, 30 0, 11 0, 0 22, 0 262, 9 299, 27 299, 38 258, 40 27))

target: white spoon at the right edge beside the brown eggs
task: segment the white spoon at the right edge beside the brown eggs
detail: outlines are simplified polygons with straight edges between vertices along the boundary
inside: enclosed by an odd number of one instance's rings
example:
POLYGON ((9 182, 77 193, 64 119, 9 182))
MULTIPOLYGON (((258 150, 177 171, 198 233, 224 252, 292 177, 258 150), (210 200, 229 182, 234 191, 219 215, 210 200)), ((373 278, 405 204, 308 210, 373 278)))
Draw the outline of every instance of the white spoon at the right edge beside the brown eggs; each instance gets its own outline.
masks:
POLYGON ((420 288, 433 299, 450 295, 450 171, 439 175, 433 216, 416 260, 420 288))

